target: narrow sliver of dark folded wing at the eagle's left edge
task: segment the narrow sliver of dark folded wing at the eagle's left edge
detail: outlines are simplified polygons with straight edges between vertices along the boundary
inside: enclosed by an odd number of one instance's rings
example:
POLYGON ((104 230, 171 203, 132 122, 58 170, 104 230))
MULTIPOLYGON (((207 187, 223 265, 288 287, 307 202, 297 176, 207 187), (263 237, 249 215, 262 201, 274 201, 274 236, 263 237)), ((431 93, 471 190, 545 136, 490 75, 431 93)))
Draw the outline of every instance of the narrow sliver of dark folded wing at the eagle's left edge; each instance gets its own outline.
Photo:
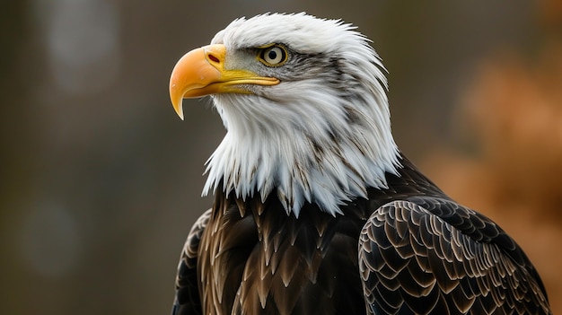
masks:
POLYGON ((198 291, 198 249, 201 235, 211 216, 211 209, 199 216, 193 224, 188 240, 181 251, 178 274, 176 276, 176 298, 173 302, 171 315, 202 314, 201 300, 198 291))

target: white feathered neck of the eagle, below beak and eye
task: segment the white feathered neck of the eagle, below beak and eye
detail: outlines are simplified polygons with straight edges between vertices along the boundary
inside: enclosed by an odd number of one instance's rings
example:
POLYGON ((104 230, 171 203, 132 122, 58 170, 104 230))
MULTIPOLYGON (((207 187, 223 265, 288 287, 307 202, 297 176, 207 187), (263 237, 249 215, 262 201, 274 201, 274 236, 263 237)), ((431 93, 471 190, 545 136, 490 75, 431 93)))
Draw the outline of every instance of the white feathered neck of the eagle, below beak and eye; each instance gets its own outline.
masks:
POLYGON ((400 166, 388 104, 377 106, 382 113, 368 108, 371 115, 351 104, 337 104, 342 111, 331 116, 306 115, 317 107, 312 101, 301 96, 282 107, 255 96, 215 98, 227 133, 207 161, 203 194, 259 194, 262 201, 276 194, 287 214, 313 203, 337 215, 348 201, 366 198, 367 188, 386 188, 386 174, 400 166), (361 120, 369 117, 380 121, 361 120))

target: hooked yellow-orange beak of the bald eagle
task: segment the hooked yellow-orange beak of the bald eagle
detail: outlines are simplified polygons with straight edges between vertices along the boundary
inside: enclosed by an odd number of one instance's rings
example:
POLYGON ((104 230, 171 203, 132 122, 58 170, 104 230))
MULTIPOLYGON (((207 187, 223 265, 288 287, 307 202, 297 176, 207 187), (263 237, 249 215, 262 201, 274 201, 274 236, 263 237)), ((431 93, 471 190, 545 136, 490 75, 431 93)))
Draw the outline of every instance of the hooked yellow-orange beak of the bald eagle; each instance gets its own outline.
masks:
POLYGON ((277 78, 264 77, 246 70, 224 69, 226 48, 209 45, 189 51, 171 71, 170 99, 183 119, 181 102, 216 93, 250 93, 241 84, 275 85, 277 78))

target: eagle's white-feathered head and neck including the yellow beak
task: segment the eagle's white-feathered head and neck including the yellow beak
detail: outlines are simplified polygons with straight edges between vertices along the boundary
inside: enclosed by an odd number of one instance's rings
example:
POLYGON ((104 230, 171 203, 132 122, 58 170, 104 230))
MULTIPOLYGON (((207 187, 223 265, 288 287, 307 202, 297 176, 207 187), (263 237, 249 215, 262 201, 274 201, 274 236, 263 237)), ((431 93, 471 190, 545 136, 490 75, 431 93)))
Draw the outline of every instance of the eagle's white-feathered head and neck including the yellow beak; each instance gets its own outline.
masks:
POLYGON ((304 203, 329 214, 386 187, 399 151, 386 78, 369 39, 340 20, 306 13, 241 18, 174 67, 170 95, 210 95, 226 135, 207 161, 208 191, 265 201, 287 214, 304 203))

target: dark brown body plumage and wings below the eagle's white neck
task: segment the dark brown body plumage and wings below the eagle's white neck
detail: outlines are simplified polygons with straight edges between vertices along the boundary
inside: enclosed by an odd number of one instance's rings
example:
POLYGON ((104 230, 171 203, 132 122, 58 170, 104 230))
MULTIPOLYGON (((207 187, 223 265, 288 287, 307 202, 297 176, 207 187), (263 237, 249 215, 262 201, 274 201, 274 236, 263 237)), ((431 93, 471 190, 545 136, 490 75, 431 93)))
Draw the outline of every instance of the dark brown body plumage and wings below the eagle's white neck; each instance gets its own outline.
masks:
POLYGON ((173 313, 549 314, 522 249, 401 163, 336 217, 217 194, 189 233, 173 313))

